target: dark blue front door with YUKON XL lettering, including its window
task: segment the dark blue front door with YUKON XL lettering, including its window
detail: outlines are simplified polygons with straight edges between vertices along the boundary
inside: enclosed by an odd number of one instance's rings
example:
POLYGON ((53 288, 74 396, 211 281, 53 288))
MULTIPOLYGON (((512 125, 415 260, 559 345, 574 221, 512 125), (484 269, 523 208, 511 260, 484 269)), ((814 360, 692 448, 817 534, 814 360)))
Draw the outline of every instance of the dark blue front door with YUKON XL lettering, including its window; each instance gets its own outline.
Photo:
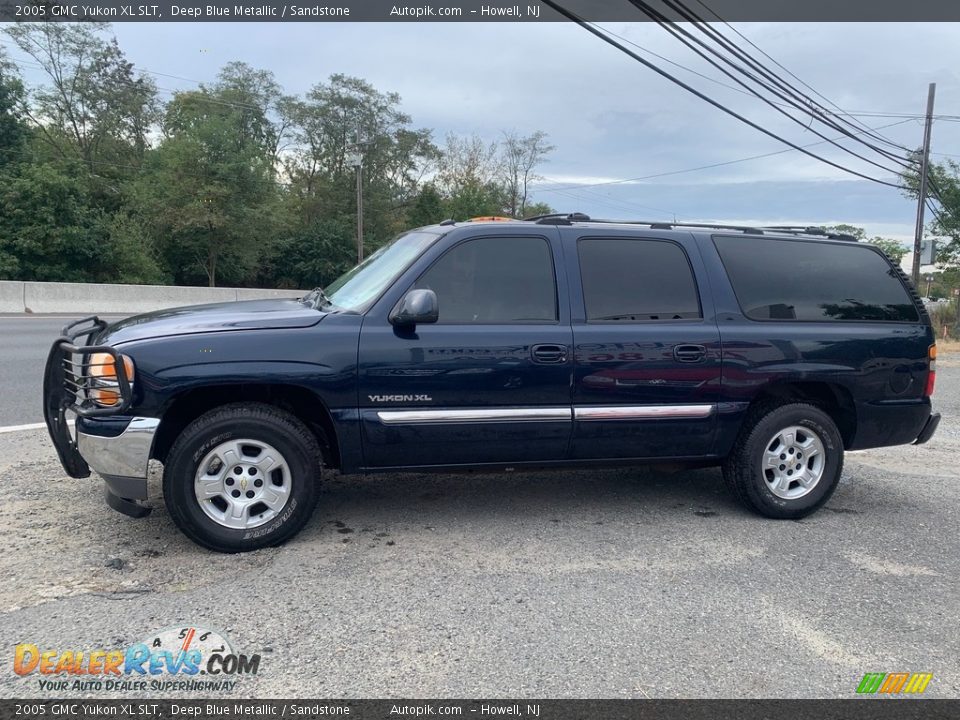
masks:
POLYGON ((558 302, 558 241, 516 231, 450 241, 410 285, 437 293, 436 324, 404 331, 364 319, 368 468, 566 456, 573 336, 558 302))

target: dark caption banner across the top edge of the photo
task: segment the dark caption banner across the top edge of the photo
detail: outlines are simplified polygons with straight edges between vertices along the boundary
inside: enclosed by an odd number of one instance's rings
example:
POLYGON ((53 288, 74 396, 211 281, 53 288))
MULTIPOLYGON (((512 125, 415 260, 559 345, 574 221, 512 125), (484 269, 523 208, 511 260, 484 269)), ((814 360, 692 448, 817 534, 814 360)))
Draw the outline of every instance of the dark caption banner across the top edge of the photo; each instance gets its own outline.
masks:
MULTIPOLYGON (((960 21, 956 0, 645 0, 669 20, 730 22, 960 21)), ((628 0, 558 0, 584 20, 649 22, 628 0)), ((538 0, 0 0, 0 21, 77 22, 559 22, 538 0)))

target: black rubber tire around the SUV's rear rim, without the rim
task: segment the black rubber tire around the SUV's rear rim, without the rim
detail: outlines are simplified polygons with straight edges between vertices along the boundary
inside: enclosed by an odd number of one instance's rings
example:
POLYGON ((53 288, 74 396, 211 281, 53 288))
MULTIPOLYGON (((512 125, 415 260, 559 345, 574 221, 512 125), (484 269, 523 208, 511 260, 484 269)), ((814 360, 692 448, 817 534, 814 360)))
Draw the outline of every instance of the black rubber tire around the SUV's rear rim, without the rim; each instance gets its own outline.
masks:
MULTIPOLYGON (((789 520, 806 517, 827 502, 842 471, 843 438, 829 415, 806 403, 764 403, 753 408, 744 420, 733 450, 724 461, 723 479, 733 495, 754 512, 789 520), (815 433, 825 452, 819 481, 807 494, 790 499, 774 494, 762 463, 775 435, 794 426, 815 433)), ((794 489, 799 491, 799 484, 795 483, 794 489)))

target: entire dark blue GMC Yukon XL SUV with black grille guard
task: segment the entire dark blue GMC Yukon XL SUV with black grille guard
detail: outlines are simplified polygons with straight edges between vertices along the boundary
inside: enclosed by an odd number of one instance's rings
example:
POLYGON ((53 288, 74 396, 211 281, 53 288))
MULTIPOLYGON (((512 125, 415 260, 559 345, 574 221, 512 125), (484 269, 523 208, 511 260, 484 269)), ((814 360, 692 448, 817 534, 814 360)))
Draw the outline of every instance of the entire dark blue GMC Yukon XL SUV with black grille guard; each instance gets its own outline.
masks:
POLYGON ((301 300, 78 321, 44 412, 68 474, 136 517, 161 461, 177 525, 223 552, 290 538, 330 468, 715 463, 798 518, 844 450, 930 438, 935 357, 903 273, 843 236, 447 221, 301 300))

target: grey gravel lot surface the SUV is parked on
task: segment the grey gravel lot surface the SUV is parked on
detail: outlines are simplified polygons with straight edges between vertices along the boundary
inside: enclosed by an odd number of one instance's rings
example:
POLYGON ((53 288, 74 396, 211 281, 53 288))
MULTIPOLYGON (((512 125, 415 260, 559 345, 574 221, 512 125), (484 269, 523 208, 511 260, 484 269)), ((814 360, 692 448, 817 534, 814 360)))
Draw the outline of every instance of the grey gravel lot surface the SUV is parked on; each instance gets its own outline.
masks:
POLYGON ((713 469, 337 478, 294 541, 237 556, 159 500, 108 509, 44 433, 0 434, 0 696, 71 695, 15 675, 17 643, 183 624, 262 655, 229 697, 851 697, 894 671, 960 697, 956 357, 936 404, 928 445, 848 455, 799 522, 741 510, 713 469))

